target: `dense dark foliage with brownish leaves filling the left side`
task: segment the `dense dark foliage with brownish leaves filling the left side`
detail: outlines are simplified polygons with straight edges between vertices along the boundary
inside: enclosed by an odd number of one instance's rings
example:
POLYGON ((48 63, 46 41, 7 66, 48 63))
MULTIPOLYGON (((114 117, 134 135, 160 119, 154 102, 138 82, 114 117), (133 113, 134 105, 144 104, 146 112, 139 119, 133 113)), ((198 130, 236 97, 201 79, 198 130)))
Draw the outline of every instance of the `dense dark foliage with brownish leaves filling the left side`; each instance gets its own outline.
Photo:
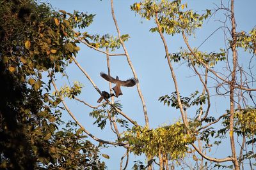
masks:
POLYGON ((43 79, 48 69, 52 76, 64 72, 79 50, 73 29, 92 17, 36 1, 0 1, 1 169, 104 169, 99 148, 76 124, 61 121, 60 99, 43 79))

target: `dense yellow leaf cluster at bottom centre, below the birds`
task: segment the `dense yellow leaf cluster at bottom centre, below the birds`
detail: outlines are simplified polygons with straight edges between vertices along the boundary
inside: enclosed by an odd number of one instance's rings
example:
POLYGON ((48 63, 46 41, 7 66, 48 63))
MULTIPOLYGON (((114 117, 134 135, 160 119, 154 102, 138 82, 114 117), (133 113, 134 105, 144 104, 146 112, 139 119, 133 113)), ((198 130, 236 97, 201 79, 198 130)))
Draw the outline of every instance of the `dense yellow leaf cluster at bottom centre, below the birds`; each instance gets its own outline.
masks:
POLYGON ((180 122, 176 124, 150 129, 133 127, 125 133, 131 152, 136 155, 145 153, 150 157, 158 157, 159 153, 168 155, 168 159, 176 160, 184 157, 189 143, 195 141, 193 134, 187 134, 180 122))

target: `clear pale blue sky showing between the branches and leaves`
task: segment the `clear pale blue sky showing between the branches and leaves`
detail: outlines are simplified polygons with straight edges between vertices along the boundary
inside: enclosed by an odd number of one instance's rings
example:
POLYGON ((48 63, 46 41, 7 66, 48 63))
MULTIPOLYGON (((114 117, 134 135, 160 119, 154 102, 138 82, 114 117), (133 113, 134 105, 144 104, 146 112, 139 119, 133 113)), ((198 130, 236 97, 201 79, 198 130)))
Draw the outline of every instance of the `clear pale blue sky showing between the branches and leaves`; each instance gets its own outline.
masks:
MULTIPOLYGON (((52 7, 56 10, 66 10, 70 13, 77 10, 96 14, 92 25, 90 25, 86 31, 90 34, 117 35, 115 25, 111 17, 110 1, 108 0, 44 0, 44 2, 52 4, 52 7)), ((154 22, 143 20, 140 16, 136 16, 135 13, 130 10, 130 5, 135 2, 136 1, 114 0, 116 19, 120 27, 121 34, 129 34, 129 36, 131 36, 125 45, 127 46, 132 64, 134 65, 140 80, 141 91, 145 98, 148 110, 150 128, 158 127, 163 124, 172 124, 179 120, 179 111, 163 106, 163 103, 159 103, 158 101, 160 96, 164 96, 165 94, 170 94, 175 91, 170 69, 166 59, 164 59, 165 54, 163 43, 159 38, 159 34, 149 32, 149 29, 154 26, 154 22)), ((202 13, 206 8, 216 8, 214 3, 219 4, 220 1, 188 1, 188 8, 202 13)), ((235 12, 237 32, 241 30, 250 31, 256 25, 255 6, 255 0, 236 1, 235 12)), ((189 38, 191 46, 196 47, 200 45, 207 36, 221 25, 220 22, 213 22, 214 20, 220 19, 220 16, 221 15, 216 15, 214 18, 212 17, 209 22, 205 22, 202 29, 196 31, 197 34, 195 38, 189 38)), ((179 52, 180 46, 185 48, 182 36, 180 35, 168 36, 166 39, 168 41, 170 52, 179 52)), ((200 50, 218 52, 220 48, 224 48, 223 39, 223 32, 218 31, 200 47, 200 50)), ((122 51, 117 50, 116 53, 117 52, 122 51)), ((245 57, 247 57, 246 60, 249 59, 248 56, 245 57)), ((81 45, 81 51, 79 51, 77 55, 77 60, 80 62, 81 66, 84 67, 87 73, 90 74, 91 78, 100 90, 108 91, 108 82, 99 76, 100 71, 104 71, 105 73, 108 71, 106 56, 102 53, 93 51, 85 45, 81 45)), ((118 74, 119 78, 123 80, 132 77, 132 71, 127 64, 125 57, 111 57, 110 64, 112 76, 116 76, 118 74)), ((195 92, 195 90, 202 92, 202 86, 196 83, 198 82, 198 78, 193 76, 194 73, 186 68, 186 64, 180 63, 174 64, 174 66, 182 96, 188 96, 191 92, 195 92)), ((69 74, 70 81, 81 81, 81 83, 84 84, 83 92, 79 97, 87 103, 96 106, 99 94, 95 89, 93 89, 91 83, 86 80, 86 77, 81 73, 81 71, 79 71, 76 66, 70 65, 67 72, 69 74)), ((58 81, 59 87, 65 82, 67 83, 67 79, 60 77, 60 81, 58 81)), ((133 120, 136 120, 138 124, 144 125, 145 122, 142 105, 138 92, 136 91, 136 87, 122 88, 122 92, 124 95, 118 97, 118 100, 123 104, 122 111, 129 115, 133 120)), ((221 115, 226 109, 228 109, 228 103, 226 103, 227 101, 225 100, 226 99, 220 100, 219 98, 212 100, 211 116, 218 117, 218 115, 221 115)), ((98 138, 109 141, 115 140, 115 135, 111 133, 109 126, 101 131, 97 126, 92 125, 93 118, 88 116, 92 109, 77 102, 67 102, 76 117, 86 129, 92 132, 92 134, 98 138)), ((194 114, 195 113, 189 113, 189 116, 193 117, 194 114)), ((63 118, 65 120, 70 119, 67 113, 63 113, 63 118)), ((229 146, 229 143, 227 143, 227 145, 229 146)), ((223 146, 223 148, 225 148, 225 146, 223 146)), ((220 152, 220 148, 217 150, 216 155, 221 155, 218 152, 220 152)), ((119 169, 120 157, 124 155, 125 150, 110 146, 109 148, 102 150, 102 153, 110 155, 109 160, 104 158, 102 159, 106 162, 109 169, 119 169)), ((230 150, 227 150, 226 153, 230 153, 230 150)), ((132 160, 142 160, 142 162, 144 162, 141 157, 132 156, 128 169, 131 169, 133 165, 132 160)))

